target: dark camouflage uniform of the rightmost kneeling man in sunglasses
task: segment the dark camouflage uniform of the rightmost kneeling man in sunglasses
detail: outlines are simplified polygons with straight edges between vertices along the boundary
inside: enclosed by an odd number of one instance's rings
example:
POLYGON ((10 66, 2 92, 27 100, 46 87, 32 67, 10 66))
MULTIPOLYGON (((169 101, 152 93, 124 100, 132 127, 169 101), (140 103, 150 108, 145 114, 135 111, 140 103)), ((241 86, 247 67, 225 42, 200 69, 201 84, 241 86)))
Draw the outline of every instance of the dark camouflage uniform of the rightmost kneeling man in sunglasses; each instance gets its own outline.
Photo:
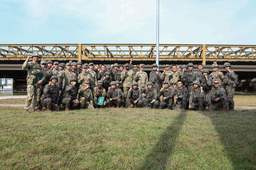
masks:
POLYGON ((218 110, 219 108, 228 108, 228 98, 227 98, 227 93, 222 87, 213 87, 210 92, 210 105, 213 105, 211 110, 218 110), (215 99, 220 98, 218 102, 215 101, 215 99))

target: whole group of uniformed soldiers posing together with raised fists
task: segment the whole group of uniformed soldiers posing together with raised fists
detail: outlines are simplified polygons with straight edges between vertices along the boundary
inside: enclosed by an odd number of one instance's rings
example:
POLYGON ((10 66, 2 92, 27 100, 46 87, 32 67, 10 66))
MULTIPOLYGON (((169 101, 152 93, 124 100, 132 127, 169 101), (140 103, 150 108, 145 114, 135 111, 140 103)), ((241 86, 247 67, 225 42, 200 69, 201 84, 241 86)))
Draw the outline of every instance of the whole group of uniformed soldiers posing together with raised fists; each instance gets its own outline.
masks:
POLYGON ((168 64, 161 73, 157 64, 152 65, 149 76, 144 71, 144 64, 139 68, 130 63, 111 67, 92 62, 59 63, 41 60, 38 53, 28 56, 22 68, 28 71, 25 112, 28 112, 33 101, 34 111, 59 111, 61 107, 69 111, 72 107, 80 109, 139 108, 148 109, 190 109, 199 111, 223 110, 227 113, 234 110, 234 89, 237 75, 230 70, 230 63, 223 68, 226 74, 218 71, 218 64, 212 64, 212 73, 198 64, 194 71, 193 63, 181 68, 168 64), (33 59, 33 61, 28 61, 33 59), (37 73, 41 80, 35 81, 37 73), (162 84, 163 81, 163 84, 162 84), (34 100, 33 100, 34 97, 34 100), (99 104, 99 98, 103 102, 99 104), (176 106, 174 106, 174 98, 176 106))

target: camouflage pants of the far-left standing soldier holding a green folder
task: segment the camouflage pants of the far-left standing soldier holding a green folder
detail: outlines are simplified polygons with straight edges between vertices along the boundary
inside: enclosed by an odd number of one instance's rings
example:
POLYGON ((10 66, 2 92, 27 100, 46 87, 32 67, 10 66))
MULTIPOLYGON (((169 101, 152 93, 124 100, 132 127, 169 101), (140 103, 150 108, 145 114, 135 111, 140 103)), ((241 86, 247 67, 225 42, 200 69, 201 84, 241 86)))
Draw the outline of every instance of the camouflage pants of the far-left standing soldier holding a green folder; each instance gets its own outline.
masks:
POLYGON ((28 93, 28 96, 26 97, 24 109, 26 109, 26 110, 29 109, 30 104, 33 99, 33 96, 34 96, 33 109, 38 109, 38 103, 40 101, 41 87, 38 85, 28 85, 27 93, 28 93))

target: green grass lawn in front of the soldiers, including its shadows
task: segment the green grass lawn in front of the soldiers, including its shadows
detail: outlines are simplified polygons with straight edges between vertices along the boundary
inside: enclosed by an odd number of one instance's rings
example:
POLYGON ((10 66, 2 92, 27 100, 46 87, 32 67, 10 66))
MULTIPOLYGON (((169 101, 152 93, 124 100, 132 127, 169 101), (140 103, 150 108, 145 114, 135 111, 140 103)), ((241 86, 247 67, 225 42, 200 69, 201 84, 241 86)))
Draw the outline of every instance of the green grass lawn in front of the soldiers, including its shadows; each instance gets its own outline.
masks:
POLYGON ((0 169, 256 169, 256 110, 0 108, 0 169))

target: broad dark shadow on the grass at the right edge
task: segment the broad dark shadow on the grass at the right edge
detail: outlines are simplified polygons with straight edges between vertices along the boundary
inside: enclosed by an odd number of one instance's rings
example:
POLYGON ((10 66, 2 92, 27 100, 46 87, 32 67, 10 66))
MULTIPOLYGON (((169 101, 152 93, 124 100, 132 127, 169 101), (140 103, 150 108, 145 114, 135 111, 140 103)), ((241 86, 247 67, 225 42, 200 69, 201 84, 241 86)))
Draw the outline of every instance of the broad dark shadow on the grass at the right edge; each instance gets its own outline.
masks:
POLYGON ((214 124, 234 169, 256 169, 256 109, 203 114, 214 124))

